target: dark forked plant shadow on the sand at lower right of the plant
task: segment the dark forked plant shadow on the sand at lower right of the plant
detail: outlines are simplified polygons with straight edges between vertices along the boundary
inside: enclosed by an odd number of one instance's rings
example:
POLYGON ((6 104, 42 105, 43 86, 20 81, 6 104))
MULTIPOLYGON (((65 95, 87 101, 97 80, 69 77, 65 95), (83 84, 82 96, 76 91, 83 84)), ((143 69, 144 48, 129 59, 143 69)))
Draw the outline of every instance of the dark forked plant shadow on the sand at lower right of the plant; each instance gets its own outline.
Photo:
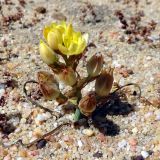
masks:
MULTIPOLYGON (((103 105, 98 105, 93 112, 91 117, 92 124, 104 135, 116 136, 120 132, 120 127, 112 120, 107 119, 106 116, 127 116, 132 111, 134 111, 134 105, 122 99, 119 94, 113 94, 103 105)), ((89 127, 87 117, 80 119, 77 124, 89 127)))

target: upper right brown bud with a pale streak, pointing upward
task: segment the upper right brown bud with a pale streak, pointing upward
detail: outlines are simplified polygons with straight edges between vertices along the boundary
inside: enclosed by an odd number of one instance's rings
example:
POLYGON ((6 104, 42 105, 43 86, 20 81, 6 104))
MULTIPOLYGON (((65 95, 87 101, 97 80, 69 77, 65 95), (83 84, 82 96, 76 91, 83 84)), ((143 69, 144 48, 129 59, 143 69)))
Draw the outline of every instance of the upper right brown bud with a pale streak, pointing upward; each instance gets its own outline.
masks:
POLYGON ((87 62, 87 72, 91 77, 98 76, 103 67, 103 56, 102 55, 93 55, 90 60, 87 62))

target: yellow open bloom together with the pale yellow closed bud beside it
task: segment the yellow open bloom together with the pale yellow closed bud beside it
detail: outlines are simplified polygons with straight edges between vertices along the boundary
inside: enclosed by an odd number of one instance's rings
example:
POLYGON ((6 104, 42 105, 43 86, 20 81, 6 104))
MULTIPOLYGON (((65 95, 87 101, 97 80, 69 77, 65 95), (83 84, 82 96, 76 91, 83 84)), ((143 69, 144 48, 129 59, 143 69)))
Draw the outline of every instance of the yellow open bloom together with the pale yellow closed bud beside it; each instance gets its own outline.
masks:
POLYGON ((57 61, 57 53, 66 56, 78 55, 83 53, 87 46, 88 35, 76 32, 72 24, 61 22, 52 23, 43 29, 45 41, 40 41, 40 55, 45 63, 52 64, 57 61))

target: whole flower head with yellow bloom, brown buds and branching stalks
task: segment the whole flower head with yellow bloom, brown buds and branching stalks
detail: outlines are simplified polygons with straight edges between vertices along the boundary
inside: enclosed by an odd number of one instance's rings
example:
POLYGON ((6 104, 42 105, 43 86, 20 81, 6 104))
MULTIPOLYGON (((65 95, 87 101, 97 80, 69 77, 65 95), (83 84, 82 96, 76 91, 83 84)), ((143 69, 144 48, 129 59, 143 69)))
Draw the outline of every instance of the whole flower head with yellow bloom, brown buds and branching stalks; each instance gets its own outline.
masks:
POLYGON ((38 72, 38 82, 44 97, 55 99, 59 103, 73 102, 79 113, 90 116, 96 109, 100 97, 108 96, 113 85, 113 69, 104 69, 103 56, 93 55, 86 64, 87 77, 81 77, 77 66, 87 47, 88 34, 76 32, 72 24, 52 23, 43 30, 44 41, 40 41, 39 51, 42 60, 52 69, 54 74, 38 72), (64 61, 59 60, 61 56, 64 61), (82 96, 81 90, 95 81, 95 91, 82 96), (72 89, 63 94, 59 82, 72 89))

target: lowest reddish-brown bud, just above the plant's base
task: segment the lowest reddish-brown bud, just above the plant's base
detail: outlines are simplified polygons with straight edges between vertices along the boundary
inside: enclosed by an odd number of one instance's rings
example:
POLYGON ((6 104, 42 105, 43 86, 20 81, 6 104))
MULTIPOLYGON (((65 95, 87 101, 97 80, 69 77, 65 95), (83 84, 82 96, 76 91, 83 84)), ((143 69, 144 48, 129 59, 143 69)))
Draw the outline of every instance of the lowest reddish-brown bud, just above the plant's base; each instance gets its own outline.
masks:
POLYGON ((89 93, 83 97, 78 105, 80 111, 85 116, 90 116, 92 112, 96 109, 96 97, 93 92, 89 93))

